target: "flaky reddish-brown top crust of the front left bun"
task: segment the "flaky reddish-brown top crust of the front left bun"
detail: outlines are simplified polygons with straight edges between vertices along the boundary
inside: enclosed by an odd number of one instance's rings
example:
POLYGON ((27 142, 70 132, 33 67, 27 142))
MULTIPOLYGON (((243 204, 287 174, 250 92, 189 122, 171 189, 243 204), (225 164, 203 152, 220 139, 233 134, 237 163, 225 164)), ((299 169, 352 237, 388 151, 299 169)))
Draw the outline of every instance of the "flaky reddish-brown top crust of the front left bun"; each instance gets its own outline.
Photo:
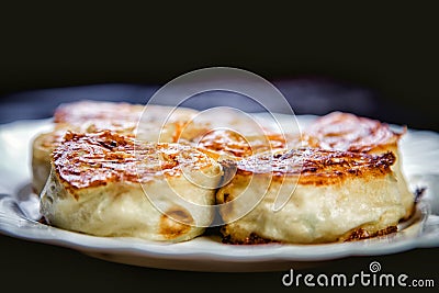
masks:
POLYGON ((53 153, 59 177, 72 188, 105 185, 112 181, 147 182, 155 176, 180 176, 181 166, 211 166, 207 156, 176 144, 140 144, 109 131, 67 132, 53 153))

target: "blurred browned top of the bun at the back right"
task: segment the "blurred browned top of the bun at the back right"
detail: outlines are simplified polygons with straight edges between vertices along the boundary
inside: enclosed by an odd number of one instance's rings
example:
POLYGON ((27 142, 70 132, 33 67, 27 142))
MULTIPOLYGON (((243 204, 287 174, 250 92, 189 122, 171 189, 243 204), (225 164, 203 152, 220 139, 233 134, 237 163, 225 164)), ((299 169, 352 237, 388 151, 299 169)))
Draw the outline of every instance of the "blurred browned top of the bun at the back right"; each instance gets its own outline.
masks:
POLYGON ((404 132, 395 133, 375 120, 334 112, 317 119, 304 131, 303 138, 309 147, 368 153, 395 146, 404 132))

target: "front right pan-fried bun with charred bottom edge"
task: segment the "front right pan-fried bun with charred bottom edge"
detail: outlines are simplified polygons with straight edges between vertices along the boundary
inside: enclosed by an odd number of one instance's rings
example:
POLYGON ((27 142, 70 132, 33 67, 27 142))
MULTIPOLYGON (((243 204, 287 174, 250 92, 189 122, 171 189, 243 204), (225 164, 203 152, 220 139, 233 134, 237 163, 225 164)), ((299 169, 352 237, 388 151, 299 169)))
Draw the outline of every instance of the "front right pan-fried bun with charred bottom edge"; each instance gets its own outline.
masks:
POLYGON ((316 244, 359 239, 396 230, 406 215, 391 166, 393 153, 364 153, 300 148, 262 154, 236 162, 233 180, 216 193, 226 225, 224 240, 232 244, 316 244), (277 196, 290 195, 273 210, 277 196), (263 195, 263 196, 262 196, 263 195), (260 198, 249 213, 248 201, 260 198), (245 215, 244 215, 245 214, 245 215), (244 215, 230 223, 239 215, 244 215))

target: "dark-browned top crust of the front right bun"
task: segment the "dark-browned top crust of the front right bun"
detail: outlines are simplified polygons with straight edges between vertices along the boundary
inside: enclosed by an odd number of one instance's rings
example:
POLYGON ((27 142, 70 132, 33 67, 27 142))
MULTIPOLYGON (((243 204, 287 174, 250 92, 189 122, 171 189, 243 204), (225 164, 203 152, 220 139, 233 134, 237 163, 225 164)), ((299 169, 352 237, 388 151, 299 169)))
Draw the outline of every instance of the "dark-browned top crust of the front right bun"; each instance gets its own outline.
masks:
POLYGON ((392 172, 393 153, 368 155, 315 148, 292 149, 244 158, 237 162, 238 173, 272 173, 273 179, 297 176, 300 184, 331 184, 347 178, 381 177, 392 172))

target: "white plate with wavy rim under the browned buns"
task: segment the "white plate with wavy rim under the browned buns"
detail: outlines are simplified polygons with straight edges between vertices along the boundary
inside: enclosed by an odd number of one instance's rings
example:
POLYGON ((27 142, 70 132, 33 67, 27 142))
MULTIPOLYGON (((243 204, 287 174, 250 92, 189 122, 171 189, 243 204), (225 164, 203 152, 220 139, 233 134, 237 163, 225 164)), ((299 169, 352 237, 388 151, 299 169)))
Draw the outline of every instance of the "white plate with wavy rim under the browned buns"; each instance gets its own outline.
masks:
MULTIPOLYGON (((282 116, 279 116, 282 122, 282 116)), ((299 116, 306 124, 313 116, 299 116)), ((38 218, 38 199, 30 192, 32 138, 50 121, 20 121, 0 126, 0 232, 33 241, 59 245, 87 255, 130 264, 194 271, 270 271, 301 268, 348 256, 373 256, 439 246, 439 135, 409 131, 401 148, 403 170, 413 189, 427 187, 416 216, 401 232, 354 243, 324 245, 234 246, 217 236, 181 244, 133 238, 105 238, 49 227, 38 218)))

